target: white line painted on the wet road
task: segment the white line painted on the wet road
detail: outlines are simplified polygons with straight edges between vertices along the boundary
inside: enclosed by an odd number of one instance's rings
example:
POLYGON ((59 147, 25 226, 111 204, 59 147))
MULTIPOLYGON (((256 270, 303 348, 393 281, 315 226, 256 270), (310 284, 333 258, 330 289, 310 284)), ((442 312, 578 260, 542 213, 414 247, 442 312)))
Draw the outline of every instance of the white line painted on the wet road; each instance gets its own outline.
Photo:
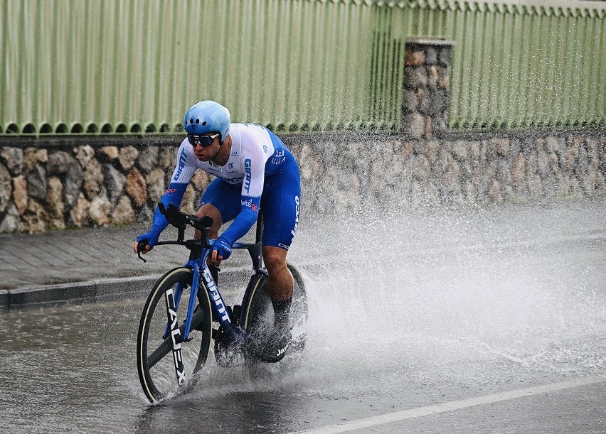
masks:
POLYGON ((396 411, 395 413, 383 414, 381 416, 373 416, 372 418, 360 419, 358 421, 337 423, 336 425, 327 425, 322 428, 299 431, 299 433, 314 433, 314 434, 332 434, 344 433, 351 430, 359 430, 368 428, 383 423, 404 421, 405 419, 420 418, 422 416, 430 416, 432 414, 444 413, 445 411, 459 410, 461 408, 481 406, 483 404, 506 401, 508 399, 522 398, 523 396, 531 396, 536 394, 545 394, 548 392, 558 391, 562 389, 571 389, 578 386, 588 386, 589 384, 602 383, 606 381, 606 375, 592 376, 589 378, 581 378, 570 381, 562 381, 560 383, 543 384, 542 386, 527 387, 525 389, 517 389, 500 394, 490 394, 478 396, 477 398, 462 399, 460 401, 450 401, 435 406, 426 406, 419 408, 411 408, 410 410, 396 411))

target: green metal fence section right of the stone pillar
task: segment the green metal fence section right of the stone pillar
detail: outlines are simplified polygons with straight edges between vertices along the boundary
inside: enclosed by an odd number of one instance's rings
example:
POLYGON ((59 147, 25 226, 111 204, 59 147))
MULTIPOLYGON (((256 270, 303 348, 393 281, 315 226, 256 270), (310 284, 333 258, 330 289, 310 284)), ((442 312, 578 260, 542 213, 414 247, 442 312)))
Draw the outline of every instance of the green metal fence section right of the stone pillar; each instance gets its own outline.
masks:
POLYGON ((605 4, 457 7, 450 126, 606 125, 605 4), (482 65, 478 68, 477 65, 482 65))

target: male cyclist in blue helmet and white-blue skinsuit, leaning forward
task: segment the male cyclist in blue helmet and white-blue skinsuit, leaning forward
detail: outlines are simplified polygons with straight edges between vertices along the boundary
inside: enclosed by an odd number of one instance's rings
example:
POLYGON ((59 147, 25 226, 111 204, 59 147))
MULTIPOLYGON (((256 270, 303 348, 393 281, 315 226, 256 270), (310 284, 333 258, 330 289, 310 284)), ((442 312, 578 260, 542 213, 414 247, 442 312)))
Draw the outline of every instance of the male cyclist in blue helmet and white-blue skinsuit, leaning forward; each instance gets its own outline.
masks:
MULTIPOLYGON (((161 197, 165 207, 179 207, 186 187, 197 169, 216 178, 203 193, 198 217, 210 216, 208 236, 213 244, 210 266, 228 259, 233 243, 243 237, 263 215, 262 254, 267 267, 267 292, 275 312, 275 327, 262 342, 251 340, 255 352, 268 362, 284 357, 292 340, 289 312, 293 278, 286 266, 287 251, 299 224, 301 181, 292 153, 275 134, 257 124, 232 124, 230 112, 215 101, 194 104, 184 116, 187 137, 181 142, 168 189, 161 197), (259 211, 261 210, 261 211, 259 211), (218 236, 223 223, 230 226, 218 236)), ((133 244, 147 244, 147 253, 168 226, 156 207, 149 232, 133 244)), ((199 236, 199 235, 198 235, 199 236)))

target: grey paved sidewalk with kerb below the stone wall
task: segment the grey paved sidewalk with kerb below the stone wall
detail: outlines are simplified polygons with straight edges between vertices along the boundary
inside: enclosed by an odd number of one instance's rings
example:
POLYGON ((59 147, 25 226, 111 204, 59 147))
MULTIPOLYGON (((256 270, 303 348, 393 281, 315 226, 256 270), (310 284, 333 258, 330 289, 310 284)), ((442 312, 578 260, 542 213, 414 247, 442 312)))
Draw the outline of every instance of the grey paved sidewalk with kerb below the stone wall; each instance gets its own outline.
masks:
MULTIPOLYGON (((159 246, 145 255, 132 242, 147 225, 68 229, 40 234, 0 234, 0 308, 74 298, 97 298, 117 283, 146 286, 188 259, 181 246, 159 246)), ((193 229, 192 229, 193 230, 193 229)), ((193 233, 187 233, 191 236, 193 233)), ((161 239, 176 238, 169 227, 161 239)), ((246 257, 230 259, 243 268, 246 257)))

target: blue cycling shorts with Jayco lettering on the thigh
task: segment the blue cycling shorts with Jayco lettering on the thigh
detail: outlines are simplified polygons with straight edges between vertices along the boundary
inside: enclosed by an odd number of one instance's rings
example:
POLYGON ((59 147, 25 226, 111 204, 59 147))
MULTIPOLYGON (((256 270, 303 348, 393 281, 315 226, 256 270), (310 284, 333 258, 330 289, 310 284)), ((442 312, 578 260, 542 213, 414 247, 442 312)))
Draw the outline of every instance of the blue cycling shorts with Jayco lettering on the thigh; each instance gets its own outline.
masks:
MULTIPOLYGON (((226 223, 240 213, 241 195, 242 184, 233 185, 215 178, 202 195, 200 205, 210 204, 216 207, 223 223, 226 223)), ((299 225, 300 200, 301 178, 296 163, 265 178, 260 210, 263 215, 263 246, 289 249, 299 225)))

